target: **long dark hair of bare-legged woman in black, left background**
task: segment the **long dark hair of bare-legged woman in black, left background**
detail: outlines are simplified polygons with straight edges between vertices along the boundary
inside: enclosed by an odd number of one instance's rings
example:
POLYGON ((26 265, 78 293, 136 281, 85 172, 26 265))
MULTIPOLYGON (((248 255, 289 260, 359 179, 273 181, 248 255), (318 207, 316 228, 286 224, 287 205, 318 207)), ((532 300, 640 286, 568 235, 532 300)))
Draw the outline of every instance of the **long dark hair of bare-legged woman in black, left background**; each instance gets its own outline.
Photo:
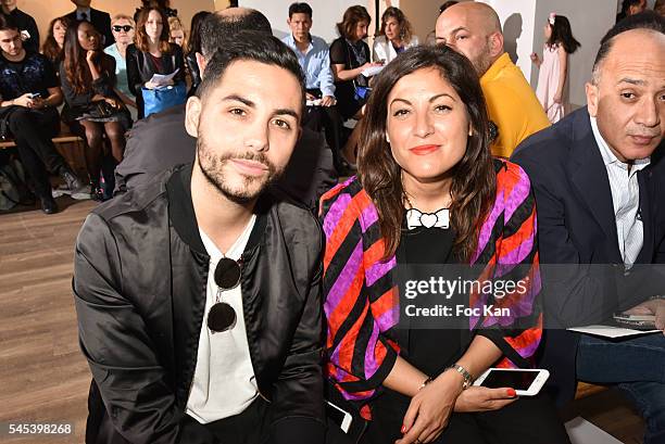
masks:
MULTIPOLYGON (((70 85, 72 85, 74 92, 77 94, 86 93, 92 89, 92 75, 90 74, 88 62, 86 62, 87 51, 84 50, 78 42, 78 27, 84 23, 88 23, 90 27, 92 27, 89 22, 74 21, 70 23, 70 26, 67 26, 67 31, 65 33, 65 42, 63 48, 63 64, 66 78, 70 85)), ((92 29, 95 29, 95 27, 92 27, 92 29)), ((98 33, 97 29, 95 29, 95 31, 98 33)), ((98 58, 97 65, 99 66, 100 71, 105 75, 115 76, 115 73, 111 72, 111 55, 108 55, 100 50, 98 58)))

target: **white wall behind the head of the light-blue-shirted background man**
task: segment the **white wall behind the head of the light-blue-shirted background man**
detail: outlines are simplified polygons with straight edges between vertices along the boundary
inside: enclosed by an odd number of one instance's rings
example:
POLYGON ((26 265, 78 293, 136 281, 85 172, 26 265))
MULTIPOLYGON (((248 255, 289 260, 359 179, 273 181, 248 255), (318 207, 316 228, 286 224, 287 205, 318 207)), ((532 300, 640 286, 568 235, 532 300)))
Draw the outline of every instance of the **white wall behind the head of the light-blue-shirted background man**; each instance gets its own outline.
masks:
MULTIPOLYGON (((273 34, 279 38, 289 34, 287 18, 289 5, 294 0, 238 0, 239 7, 254 8, 265 14, 273 26, 273 34)), ((313 10, 312 34, 322 37, 328 43, 338 37, 335 24, 341 22, 347 8, 354 4, 365 4, 359 0, 308 0, 313 10)), ((366 5, 365 5, 366 8, 366 5)), ((372 23, 372 28, 374 23, 372 23)), ((372 31, 369 34, 373 34, 372 31)))

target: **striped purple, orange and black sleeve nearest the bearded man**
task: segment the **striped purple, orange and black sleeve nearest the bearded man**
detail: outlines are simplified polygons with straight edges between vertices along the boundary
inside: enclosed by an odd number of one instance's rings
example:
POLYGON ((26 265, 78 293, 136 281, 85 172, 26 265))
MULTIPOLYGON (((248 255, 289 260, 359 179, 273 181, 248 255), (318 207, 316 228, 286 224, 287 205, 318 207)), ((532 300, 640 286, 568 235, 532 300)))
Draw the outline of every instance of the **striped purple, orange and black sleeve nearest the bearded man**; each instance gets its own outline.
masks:
POLYGON ((327 376, 347 399, 362 402, 380 391, 399 353, 385 334, 398 319, 394 257, 381 261, 376 208, 353 179, 324 194, 321 217, 327 376))

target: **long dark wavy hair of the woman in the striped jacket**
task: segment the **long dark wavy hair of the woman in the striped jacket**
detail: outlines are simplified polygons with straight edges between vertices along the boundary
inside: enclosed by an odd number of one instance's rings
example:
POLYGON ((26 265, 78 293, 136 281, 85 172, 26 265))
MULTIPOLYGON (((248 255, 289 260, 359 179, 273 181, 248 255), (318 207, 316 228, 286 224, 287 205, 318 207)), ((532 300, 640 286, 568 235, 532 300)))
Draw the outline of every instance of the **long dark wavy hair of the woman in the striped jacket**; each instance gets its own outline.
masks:
POLYGON ((480 226, 494 200, 497 178, 489 150, 489 118, 478 75, 464 55, 446 46, 407 49, 376 77, 367 103, 359 142, 357 176, 377 207, 386 256, 392 256, 400 242, 404 217, 404 189, 401 167, 386 141, 388 96, 404 76, 436 68, 455 90, 466 107, 473 135, 464 157, 448 174, 452 177, 451 226, 455 232, 453 251, 461 261, 470 261, 480 226))

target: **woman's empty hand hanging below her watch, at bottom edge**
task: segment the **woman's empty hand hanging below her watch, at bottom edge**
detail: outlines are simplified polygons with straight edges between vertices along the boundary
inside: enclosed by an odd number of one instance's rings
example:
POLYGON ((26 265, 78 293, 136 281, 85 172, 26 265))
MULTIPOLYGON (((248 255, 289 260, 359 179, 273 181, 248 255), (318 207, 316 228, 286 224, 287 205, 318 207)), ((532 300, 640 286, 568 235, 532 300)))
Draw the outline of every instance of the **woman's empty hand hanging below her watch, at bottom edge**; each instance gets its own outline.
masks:
POLYGON ((442 432, 453 411, 455 401, 462 392, 463 379, 456 371, 448 370, 439 375, 418 391, 412 398, 402 433, 406 433, 396 444, 429 443, 442 432))

